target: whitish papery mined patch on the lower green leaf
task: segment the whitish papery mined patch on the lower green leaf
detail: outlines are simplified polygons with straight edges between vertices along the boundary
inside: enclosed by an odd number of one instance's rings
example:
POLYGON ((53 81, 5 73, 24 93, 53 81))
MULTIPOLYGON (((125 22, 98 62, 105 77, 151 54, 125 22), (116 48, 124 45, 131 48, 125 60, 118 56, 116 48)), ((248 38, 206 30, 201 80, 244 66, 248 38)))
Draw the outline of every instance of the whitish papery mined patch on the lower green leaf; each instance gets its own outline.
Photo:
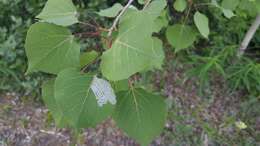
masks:
POLYGON ((99 79, 95 76, 90 85, 90 88, 95 94, 97 103, 100 107, 102 107, 107 102, 110 102, 113 105, 116 104, 116 95, 108 81, 99 79))

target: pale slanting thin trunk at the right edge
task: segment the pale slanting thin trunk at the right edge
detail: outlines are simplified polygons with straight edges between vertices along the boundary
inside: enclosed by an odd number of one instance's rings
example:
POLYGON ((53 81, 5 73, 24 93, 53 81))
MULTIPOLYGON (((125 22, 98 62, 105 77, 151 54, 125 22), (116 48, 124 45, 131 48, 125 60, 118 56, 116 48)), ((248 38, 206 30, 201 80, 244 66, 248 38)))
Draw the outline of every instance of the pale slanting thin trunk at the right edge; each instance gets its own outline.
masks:
POLYGON ((250 41, 252 40, 253 36, 255 35, 255 33, 257 31, 259 25, 260 25, 260 14, 258 14, 256 16, 254 23, 248 29, 246 36, 244 37, 242 43, 240 44, 240 48, 238 50, 238 56, 242 56, 245 53, 250 41))

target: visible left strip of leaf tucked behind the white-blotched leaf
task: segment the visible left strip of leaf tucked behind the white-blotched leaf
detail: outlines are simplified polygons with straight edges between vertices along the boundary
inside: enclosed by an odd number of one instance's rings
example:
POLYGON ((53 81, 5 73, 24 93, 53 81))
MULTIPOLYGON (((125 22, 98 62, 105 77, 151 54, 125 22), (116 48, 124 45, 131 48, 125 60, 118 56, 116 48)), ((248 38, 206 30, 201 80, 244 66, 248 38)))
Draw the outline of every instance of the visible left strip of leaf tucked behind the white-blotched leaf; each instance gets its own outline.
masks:
POLYGON ((67 123, 64 119, 64 115, 54 98, 54 79, 45 82, 42 85, 42 99, 46 104, 47 108, 50 110, 56 125, 59 128, 66 127, 67 123))

